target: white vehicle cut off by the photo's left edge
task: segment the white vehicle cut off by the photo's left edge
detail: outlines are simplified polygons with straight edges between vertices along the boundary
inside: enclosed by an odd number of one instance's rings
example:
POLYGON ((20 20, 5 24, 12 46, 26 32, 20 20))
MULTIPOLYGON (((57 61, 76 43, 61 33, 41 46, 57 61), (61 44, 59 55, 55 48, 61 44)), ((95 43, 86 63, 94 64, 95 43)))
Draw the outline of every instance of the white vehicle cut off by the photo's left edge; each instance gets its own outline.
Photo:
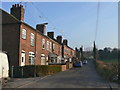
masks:
POLYGON ((6 85, 9 78, 9 63, 6 53, 0 51, 0 85, 6 85))

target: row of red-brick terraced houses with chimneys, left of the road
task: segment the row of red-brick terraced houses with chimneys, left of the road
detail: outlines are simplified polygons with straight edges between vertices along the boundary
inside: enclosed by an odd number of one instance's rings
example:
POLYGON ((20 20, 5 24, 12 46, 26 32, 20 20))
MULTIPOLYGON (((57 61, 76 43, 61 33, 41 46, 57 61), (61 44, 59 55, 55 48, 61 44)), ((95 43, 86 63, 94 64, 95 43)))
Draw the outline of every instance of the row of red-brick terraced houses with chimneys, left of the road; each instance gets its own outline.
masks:
POLYGON ((54 32, 47 32, 48 23, 36 28, 24 22, 24 8, 12 5, 10 14, 2 12, 2 50, 6 51, 10 66, 49 65, 71 63, 76 52, 68 46, 68 40, 54 32))

